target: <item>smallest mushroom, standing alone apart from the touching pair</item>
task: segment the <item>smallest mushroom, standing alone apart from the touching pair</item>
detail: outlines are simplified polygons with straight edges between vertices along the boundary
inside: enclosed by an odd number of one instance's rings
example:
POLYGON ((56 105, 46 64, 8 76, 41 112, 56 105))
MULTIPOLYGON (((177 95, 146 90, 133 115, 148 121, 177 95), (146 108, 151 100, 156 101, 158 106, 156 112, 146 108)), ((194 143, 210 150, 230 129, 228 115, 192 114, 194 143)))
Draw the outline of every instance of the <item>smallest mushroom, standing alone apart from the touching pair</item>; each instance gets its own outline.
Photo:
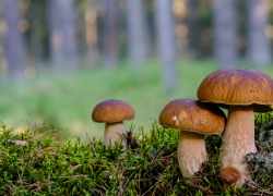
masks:
POLYGON ((92 112, 93 121, 105 123, 104 142, 106 146, 112 146, 115 143, 124 145, 126 127, 123 121, 133 118, 134 110, 130 105, 114 99, 99 102, 92 112))

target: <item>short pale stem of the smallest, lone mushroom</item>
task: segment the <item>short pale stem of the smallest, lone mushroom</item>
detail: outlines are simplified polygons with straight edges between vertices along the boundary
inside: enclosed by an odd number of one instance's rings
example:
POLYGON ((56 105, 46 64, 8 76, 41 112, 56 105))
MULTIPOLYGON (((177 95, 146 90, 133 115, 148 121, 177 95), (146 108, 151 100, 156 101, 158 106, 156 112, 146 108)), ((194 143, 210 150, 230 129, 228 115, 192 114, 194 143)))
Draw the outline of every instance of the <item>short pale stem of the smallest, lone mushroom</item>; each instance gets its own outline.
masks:
POLYGON ((114 146, 115 143, 122 143, 124 145, 123 134, 126 127, 122 122, 119 123, 106 123, 104 140, 106 146, 114 146))

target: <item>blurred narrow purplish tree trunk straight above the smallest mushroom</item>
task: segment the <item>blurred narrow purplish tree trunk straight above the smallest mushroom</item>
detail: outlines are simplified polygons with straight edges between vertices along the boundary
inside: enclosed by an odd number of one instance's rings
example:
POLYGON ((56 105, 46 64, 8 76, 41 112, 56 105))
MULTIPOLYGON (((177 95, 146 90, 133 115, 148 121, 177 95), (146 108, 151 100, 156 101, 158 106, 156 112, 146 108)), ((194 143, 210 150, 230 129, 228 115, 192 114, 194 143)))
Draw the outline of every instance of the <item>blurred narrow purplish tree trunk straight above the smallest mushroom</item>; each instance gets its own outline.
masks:
POLYGON ((114 68, 118 61, 118 1, 105 1, 104 53, 107 68, 114 68))

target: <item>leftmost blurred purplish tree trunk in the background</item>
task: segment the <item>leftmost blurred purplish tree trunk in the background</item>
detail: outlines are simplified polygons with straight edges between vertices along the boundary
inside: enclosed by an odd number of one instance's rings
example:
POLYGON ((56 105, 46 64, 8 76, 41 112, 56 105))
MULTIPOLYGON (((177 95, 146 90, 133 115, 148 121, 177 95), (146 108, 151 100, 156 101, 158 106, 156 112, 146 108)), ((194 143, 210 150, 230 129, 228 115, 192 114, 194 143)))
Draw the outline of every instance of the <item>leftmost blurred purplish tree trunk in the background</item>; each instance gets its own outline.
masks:
POLYGON ((8 63, 9 75, 12 78, 24 76, 26 57, 22 34, 19 30, 19 0, 4 0, 4 19, 7 32, 4 36, 4 53, 8 63))

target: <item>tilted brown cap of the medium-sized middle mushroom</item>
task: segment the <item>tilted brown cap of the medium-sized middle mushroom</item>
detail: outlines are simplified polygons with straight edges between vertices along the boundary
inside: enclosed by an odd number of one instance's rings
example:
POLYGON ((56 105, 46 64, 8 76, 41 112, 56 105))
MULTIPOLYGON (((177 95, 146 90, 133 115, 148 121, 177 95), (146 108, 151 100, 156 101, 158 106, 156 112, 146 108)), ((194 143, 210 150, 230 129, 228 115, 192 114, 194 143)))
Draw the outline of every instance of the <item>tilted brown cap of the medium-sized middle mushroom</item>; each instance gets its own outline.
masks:
POLYGON ((176 99, 165 106, 159 123, 165 127, 200 134, 221 134, 225 127, 225 114, 215 105, 191 99, 176 99))

